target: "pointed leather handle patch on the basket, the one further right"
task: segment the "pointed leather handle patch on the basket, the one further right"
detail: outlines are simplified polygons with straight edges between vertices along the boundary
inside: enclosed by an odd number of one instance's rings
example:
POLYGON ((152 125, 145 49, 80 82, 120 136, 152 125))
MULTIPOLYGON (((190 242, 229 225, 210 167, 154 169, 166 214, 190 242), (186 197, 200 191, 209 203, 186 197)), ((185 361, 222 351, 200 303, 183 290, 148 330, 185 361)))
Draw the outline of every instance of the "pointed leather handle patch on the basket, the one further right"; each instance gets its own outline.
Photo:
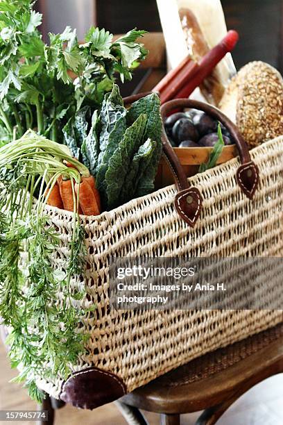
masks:
POLYGON ((237 169, 237 181, 246 197, 252 199, 259 184, 259 169, 252 161, 237 169))

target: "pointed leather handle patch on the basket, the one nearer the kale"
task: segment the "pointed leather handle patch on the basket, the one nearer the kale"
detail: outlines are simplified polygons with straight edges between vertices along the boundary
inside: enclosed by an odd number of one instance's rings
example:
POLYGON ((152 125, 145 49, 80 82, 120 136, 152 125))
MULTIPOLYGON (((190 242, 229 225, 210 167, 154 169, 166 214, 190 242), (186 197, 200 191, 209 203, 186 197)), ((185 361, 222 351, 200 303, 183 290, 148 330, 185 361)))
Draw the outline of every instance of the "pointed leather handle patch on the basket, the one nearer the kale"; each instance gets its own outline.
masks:
POLYGON ((203 199, 197 188, 178 192, 175 196, 175 210, 189 226, 194 227, 203 208, 203 199))

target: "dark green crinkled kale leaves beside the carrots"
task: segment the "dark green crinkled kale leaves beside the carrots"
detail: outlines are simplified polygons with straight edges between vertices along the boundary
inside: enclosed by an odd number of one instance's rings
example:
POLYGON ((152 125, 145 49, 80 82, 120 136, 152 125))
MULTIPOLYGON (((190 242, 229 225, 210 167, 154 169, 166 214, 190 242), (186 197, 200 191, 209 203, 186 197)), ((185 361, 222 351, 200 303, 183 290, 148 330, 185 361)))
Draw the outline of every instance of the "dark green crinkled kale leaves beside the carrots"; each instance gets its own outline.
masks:
MULTIPOLYGON (((80 122, 80 127, 87 128, 80 122)), ((78 120, 65 128, 65 142, 76 158, 96 177, 103 206, 111 210, 153 192, 162 153, 160 99, 152 93, 129 110, 117 85, 105 94, 101 113, 96 111, 84 140, 76 137, 78 120)))

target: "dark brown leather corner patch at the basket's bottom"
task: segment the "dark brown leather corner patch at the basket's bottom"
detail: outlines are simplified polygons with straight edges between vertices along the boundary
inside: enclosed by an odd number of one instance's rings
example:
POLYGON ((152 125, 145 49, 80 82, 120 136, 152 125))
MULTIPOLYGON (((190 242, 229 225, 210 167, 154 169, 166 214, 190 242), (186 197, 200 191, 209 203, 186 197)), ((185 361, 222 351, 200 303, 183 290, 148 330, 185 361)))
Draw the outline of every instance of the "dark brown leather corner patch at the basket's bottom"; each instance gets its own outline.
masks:
POLYGON ((126 385, 118 376, 89 367, 71 374, 62 384, 60 399, 81 409, 95 409, 126 394, 126 385))

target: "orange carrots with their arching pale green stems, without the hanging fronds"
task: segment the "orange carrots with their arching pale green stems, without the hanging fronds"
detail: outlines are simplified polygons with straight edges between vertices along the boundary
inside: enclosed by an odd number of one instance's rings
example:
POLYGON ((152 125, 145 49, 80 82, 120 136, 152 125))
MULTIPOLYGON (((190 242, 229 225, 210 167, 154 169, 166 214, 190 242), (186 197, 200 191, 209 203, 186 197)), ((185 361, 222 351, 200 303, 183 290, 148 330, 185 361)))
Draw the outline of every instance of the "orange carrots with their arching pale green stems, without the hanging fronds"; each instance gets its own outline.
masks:
MULTIPOLYGON (((69 148, 65 145, 47 140, 29 130, 21 139, 0 148, 0 169, 8 174, 8 182, 10 170, 16 174, 19 167, 22 167, 20 177, 26 178, 23 208, 29 206, 26 202, 26 194, 29 192, 30 199, 37 197, 40 201, 38 205, 48 203, 73 213, 101 214, 101 198, 94 177, 85 165, 70 156, 69 148), (39 194, 36 188, 40 188, 39 194)), ((15 178, 15 182, 18 178, 15 178)))

